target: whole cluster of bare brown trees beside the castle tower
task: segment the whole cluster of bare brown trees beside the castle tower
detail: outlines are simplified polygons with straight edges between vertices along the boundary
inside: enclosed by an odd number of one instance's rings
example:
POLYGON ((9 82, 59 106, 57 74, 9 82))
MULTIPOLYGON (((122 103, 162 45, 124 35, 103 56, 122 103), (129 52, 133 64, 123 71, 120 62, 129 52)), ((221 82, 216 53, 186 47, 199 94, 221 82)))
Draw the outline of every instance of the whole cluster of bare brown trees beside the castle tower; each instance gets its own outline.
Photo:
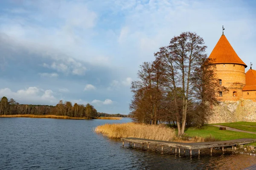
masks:
POLYGON ((152 125, 173 122, 178 135, 185 127, 204 125, 218 103, 216 93, 227 90, 215 79, 206 48, 196 33, 183 32, 159 48, 153 62, 143 62, 131 86, 131 117, 152 125))

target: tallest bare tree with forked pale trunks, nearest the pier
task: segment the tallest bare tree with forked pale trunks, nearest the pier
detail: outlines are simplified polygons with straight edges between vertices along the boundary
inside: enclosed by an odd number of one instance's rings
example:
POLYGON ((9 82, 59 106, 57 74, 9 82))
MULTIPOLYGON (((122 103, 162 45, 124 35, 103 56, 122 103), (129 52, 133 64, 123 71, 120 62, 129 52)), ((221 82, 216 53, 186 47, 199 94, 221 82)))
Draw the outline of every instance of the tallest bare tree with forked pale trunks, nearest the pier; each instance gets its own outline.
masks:
POLYGON ((172 91, 174 96, 178 135, 184 133, 188 108, 195 100, 193 98, 195 84, 191 81, 191 78, 195 70, 201 67, 201 59, 207 57, 205 54, 206 48, 203 38, 196 33, 183 32, 179 36, 173 37, 169 46, 161 47, 160 51, 155 53, 156 59, 163 62, 165 66, 166 83, 164 85, 172 91), (178 109, 177 87, 182 90, 181 117, 178 109))

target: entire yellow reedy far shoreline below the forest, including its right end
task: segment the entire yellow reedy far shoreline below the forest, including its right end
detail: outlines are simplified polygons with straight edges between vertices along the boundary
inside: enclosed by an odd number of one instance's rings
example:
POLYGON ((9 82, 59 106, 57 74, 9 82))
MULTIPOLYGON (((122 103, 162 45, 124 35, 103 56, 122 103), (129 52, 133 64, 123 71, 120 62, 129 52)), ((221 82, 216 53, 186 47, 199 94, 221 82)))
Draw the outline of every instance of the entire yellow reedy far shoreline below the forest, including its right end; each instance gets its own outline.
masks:
POLYGON ((56 116, 56 115, 34 115, 34 114, 15 114, 15 115, 0 115, 3 118, 17 118, 17 117, 25 117, 25 118, 48 118, 48 119, 111 119, 111 120, 120 120, 121 117, 70 117, 70 116, 56 116))

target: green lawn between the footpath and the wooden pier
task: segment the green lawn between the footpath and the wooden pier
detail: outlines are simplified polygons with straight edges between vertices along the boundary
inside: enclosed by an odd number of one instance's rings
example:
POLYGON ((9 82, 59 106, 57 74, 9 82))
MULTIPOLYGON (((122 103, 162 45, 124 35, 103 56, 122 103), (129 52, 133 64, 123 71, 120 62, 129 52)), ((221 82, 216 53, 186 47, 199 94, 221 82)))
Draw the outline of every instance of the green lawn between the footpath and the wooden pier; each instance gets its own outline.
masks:
POLYGON ((198 136, 198 137, 209 137, 213 136, 215 139, 219 139, 221 141, 225 140, 233 140, 233 139, 241 139, 241 138, 252 138, 256 139, 256 134, 243 133, 243 132, 235 132, 231 130, 219 130, 218 127, 215 126, 204 126, 200 129, 195 127, 189 127, 185 130, 185 136, 198 136))

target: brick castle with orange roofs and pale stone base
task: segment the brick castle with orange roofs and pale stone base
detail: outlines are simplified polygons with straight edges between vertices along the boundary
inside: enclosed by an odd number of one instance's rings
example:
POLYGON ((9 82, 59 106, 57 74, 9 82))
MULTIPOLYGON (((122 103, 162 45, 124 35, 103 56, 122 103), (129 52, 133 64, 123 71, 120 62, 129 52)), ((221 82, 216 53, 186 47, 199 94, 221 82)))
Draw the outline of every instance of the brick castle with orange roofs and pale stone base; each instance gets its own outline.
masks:
POLYGON ((216 93, 219 105, 214 106, 214 113, 208 123, 256 122, 256 70, 250 67, 245 73, 247 65, 236 54, 224 34, 209 59, 212 59, 218 82, 229 91, 216 93))

